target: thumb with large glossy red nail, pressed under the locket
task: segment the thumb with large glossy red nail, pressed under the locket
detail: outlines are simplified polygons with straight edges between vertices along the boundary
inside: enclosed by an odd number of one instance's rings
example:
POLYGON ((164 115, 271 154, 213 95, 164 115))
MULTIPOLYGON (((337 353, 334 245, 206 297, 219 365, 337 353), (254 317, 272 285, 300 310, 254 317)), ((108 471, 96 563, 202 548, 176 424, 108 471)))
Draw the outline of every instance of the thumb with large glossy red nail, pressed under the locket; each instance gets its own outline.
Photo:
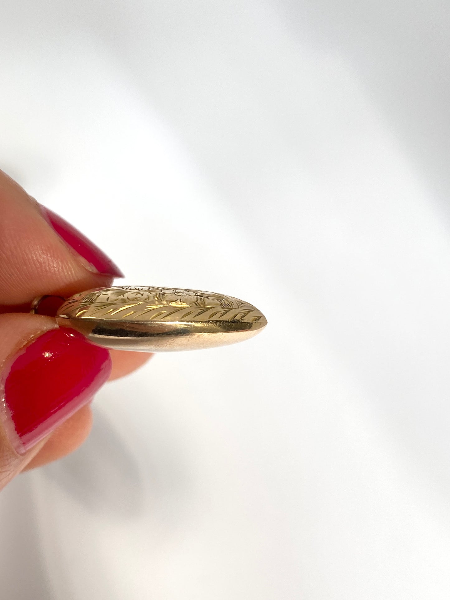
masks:
POLYGON ((0 314, 0 488, 106 382, 109 352, 35 314, 0 314))

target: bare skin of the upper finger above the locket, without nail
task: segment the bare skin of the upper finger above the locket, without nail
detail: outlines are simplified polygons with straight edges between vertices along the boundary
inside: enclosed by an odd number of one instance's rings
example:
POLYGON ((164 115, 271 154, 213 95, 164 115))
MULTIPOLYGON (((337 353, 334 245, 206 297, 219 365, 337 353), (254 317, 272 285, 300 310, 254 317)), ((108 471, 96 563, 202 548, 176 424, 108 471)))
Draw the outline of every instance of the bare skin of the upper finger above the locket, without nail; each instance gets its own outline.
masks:
POLYGON ((0 171, 0 305, 110 286, 50 227, 37 202, 0 171))

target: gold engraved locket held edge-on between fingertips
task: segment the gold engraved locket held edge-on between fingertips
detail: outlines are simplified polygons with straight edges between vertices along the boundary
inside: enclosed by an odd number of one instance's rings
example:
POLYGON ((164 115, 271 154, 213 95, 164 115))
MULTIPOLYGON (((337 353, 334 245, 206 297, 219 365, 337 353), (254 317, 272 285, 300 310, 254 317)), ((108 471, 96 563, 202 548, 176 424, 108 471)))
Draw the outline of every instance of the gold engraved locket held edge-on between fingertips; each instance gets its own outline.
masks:
MULTIPOLYGON (((38 311, 42 298, 32 304, 38 311)), ((175 352, 248 340, 267 325, 253 305, 214 292, 173 287, 116 286, 80 292, 56 312, 60 327, 98 346, 175 352)))

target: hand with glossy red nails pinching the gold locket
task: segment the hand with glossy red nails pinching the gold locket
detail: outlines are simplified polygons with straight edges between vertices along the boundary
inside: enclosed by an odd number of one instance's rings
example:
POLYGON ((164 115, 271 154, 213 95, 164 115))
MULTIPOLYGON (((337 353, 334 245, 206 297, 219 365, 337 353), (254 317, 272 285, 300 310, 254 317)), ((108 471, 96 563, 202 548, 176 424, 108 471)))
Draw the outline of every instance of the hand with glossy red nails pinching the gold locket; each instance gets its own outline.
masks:
POLYGON ((0 488, 76 449, 95 392, 151 356, 94 346, 29 314, 36 296, 67 297, 114 277, 123 275, 106 254, 0 171, 0 488))

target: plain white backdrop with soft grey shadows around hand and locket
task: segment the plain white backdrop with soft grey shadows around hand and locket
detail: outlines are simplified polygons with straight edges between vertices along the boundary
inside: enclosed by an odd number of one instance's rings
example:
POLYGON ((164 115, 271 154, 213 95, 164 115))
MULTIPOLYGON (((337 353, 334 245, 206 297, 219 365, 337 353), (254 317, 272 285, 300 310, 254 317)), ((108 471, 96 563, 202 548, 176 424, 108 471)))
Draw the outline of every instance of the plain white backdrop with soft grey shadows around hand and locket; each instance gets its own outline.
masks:
POLYGON ((446 2, 12 1, 0 164, 128 284, 235 295, 0 498, 5 600, 450 596, 446 2))

